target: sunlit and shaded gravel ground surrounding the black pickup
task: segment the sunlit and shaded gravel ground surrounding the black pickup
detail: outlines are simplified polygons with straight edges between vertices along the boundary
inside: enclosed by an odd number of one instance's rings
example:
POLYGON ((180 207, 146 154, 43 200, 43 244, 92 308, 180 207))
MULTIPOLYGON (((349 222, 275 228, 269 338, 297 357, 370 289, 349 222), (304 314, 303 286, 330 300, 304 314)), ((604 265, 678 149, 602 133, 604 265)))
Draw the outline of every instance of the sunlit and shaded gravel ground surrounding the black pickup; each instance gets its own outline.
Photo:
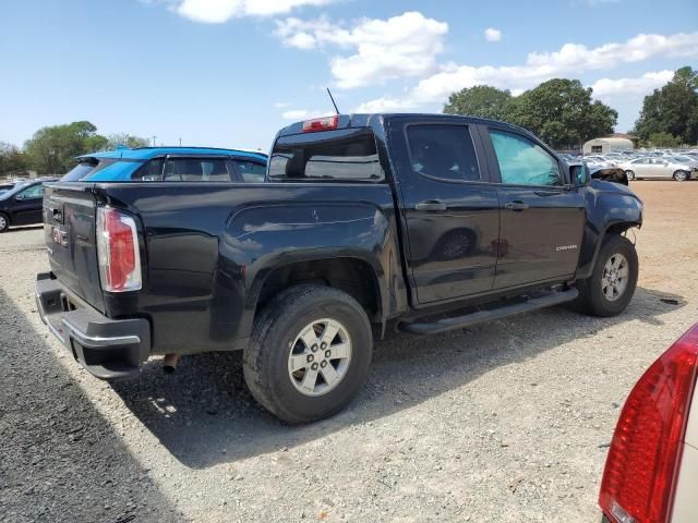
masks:
POLYGON ((0 236, 0 521, 598 522, 629 388, 698 320, 698 183, 634 182, 640 281, 621 317, 542 311, 376 346, 350 409, 281 425, 240 357, 110 386, 40 323, 40 228, 0 236))

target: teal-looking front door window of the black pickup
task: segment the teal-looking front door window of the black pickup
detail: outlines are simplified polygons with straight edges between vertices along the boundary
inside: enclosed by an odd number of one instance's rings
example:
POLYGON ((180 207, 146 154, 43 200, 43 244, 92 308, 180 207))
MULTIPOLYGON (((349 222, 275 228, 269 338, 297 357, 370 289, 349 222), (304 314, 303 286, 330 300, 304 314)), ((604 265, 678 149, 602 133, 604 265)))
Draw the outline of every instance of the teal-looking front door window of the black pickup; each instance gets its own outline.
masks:
POLYGON ((559 185, 559 166, 534 142, 502 131, 490 130, 500 163, 502 183, 513 185, 559 185))

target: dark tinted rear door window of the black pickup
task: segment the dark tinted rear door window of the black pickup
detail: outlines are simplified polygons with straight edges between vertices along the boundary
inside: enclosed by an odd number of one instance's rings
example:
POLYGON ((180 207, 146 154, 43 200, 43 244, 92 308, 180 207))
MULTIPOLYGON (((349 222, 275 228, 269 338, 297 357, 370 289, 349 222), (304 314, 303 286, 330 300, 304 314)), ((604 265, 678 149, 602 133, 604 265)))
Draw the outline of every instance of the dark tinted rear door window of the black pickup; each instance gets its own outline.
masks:
POLYGON ((480 169, 470 131, 465 125, 407 127, 414 172, 459 182, 479 182, 480 169))

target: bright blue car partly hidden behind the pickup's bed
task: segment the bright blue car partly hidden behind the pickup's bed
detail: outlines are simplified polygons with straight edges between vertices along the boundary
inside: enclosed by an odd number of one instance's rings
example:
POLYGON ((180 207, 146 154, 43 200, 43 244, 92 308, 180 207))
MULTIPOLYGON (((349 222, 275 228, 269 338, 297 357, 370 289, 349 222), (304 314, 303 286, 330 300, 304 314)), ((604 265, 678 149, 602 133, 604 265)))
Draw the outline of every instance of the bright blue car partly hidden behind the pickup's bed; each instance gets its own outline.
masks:
POLYGON ((63 182, 263 182, 266 155, 212 147, 141 147, 94 153, 63 182))

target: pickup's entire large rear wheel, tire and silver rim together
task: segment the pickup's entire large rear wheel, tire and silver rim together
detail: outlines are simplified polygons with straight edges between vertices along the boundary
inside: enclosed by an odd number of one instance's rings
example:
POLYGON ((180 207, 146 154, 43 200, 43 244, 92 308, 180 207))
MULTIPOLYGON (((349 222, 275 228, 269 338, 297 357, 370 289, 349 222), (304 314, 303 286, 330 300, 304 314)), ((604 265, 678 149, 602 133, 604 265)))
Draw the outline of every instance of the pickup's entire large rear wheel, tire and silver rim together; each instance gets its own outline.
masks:
POLYGON ((276 296, 255 319, 243 354, 244 379, 252 396, 279 419, 289 424, 323 419, 342 410, 362 388, 371 366, 372 344, 371 324, 353 297, 328 287, 297 285, 276 296), (337 348, 334 354, 317 343, 315 353, 309 346, 312 340, 322 341, 322 332, 326 332, 322 329, 329 325, 323 324, 325 320, 339 328, 329 344, 329 349, 337 348), (303 333, 310 342, 301 338, 303 333), (347 340, 348 360, 327 358, 327 354, 339 354, 339 345, 346 354, 347 340), (303 363, 304 368, 292 373, 293 362, 311 356, 313 363, 303 363), (321 368, 317 362, 325 365, 321 368), (313 376, 313 365, 317 378, 312 380, 311 391, 304 385, 305 378, 313 376), (339 376, 330 376, 335 381, 325 379, 329 367, 339 376))

